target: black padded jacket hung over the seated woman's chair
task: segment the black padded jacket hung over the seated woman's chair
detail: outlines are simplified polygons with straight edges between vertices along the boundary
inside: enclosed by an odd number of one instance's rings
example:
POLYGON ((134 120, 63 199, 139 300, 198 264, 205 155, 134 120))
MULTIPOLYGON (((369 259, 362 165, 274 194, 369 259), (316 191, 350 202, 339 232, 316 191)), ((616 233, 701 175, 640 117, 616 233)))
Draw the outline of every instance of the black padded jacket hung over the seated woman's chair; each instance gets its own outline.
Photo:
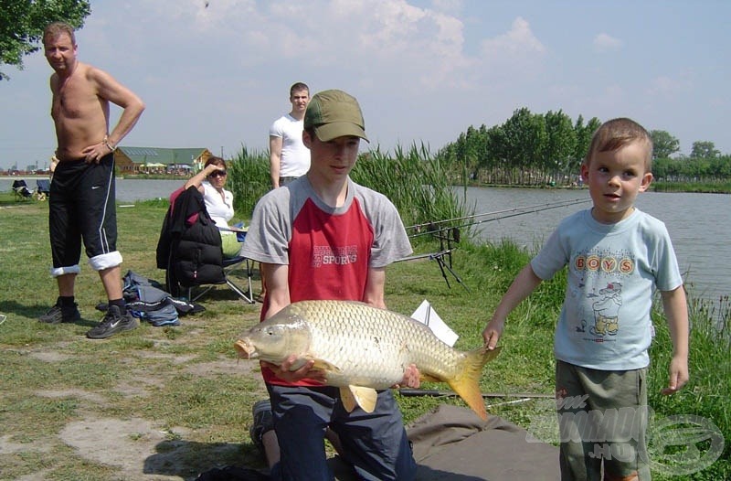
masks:
POLYGON ((167 272, 167 290, 175 296, 179 286, 226 282, 221 235, 196 187, 171 196, 156 257, 157 267, 167 272))

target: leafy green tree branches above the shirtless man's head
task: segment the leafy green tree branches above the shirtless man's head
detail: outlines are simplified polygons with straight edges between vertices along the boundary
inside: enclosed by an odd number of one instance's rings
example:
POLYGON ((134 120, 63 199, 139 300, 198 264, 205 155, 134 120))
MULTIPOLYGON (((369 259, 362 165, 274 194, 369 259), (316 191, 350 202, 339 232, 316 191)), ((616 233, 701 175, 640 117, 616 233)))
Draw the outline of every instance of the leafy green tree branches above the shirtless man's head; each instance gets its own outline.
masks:
MULTIPOLYGON (((0 65, 23 69, 23 56, 37 51, 43 30, 62 21, 80 28, 91 13, 88 0, 0 0, 0 65)), ((0 80, 9 77, 0 70, 0 80)))

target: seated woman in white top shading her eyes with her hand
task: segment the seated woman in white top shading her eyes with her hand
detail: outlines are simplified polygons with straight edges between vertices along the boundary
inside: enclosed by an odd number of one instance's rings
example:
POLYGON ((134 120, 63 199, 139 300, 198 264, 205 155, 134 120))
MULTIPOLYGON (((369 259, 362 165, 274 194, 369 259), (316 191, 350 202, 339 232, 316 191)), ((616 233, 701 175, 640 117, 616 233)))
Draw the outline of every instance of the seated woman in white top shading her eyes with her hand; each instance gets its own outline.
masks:
POLYGON ((241 250, 241 243, 237 240, 236 232, 228 226, 228 221, 234 217, 234 195, 223 188, 226 176, 226 162, 221 157, 212 156, 206 161, 203 170, 185 182, 185 188, 195 186, 203 195, 208 215, 216 222, 221 233, 224 257, 236 257, 241 250))

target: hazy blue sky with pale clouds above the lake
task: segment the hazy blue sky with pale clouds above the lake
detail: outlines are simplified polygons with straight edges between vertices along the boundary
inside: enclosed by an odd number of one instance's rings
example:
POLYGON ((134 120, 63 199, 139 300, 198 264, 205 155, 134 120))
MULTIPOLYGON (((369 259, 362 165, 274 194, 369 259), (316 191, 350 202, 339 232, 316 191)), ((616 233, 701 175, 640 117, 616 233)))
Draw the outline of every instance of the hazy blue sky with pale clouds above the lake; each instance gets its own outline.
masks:
MULTIPOLYGON (((576 120, 628 116, 689 154, 731 154, 731 2, 528 0, 91 0, 79 59, 136 91, 147 110, 122 145, 268 146, 289 87, 342 89, 370 146, 428 144, 516 109, 576 120), (206 6, 206 3, 208 6, 206 6)), ((55 149, 42 52, 3 66, 0 167, 55 149)), ((118 111, 112 114, 116 122, 118 111)))

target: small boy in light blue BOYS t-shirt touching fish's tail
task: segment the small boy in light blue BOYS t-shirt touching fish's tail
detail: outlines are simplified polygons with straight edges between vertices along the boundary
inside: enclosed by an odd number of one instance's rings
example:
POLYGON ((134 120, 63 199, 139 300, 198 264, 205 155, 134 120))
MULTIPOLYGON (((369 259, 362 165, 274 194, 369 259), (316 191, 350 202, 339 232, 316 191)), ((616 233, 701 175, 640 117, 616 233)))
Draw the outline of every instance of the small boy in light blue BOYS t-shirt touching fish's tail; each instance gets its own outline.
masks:
POLYGON ((652 182, 652 139, 614 119, 594 134, 581 176, 593 208, 564 219, 524 267, 482 332, 488 348, 506 317, 544 280, 568 266, 556 325, 556 411, 562 479, 650 479, 647 349, 658 289, 673 340, 668 386, 688 381, 688 311, 683 278, 664 224, 634 207, 652 182))

